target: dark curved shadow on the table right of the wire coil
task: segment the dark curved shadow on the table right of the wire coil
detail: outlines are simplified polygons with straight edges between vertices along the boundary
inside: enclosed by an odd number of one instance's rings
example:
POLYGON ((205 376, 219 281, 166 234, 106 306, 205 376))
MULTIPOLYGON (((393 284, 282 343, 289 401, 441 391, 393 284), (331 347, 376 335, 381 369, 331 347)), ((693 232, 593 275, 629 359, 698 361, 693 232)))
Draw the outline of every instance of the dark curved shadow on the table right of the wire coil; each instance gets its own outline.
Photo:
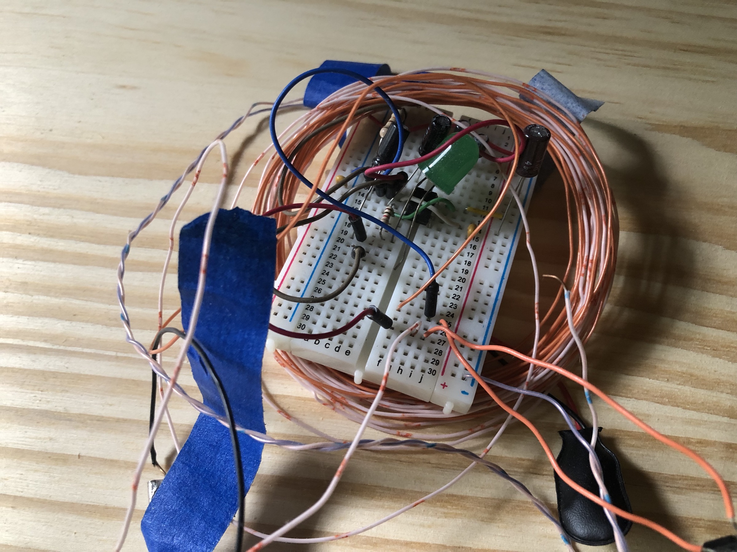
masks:
MULTIPOLYGON (((679 302, 668 297, 669 286, 691 287, 694 255, 679 236, 688 235, 685 222, 671 212, 666 180, 658 172, 652 148, 642 138, 601 121, 587 121, 624 149, 629 163, 605 165, 612 193, 624 220, 626 236, 621 240, 611 308, 596 333, 612 339, 591 340, 598 369, 615 372, 627 361, 622 347, 607 347, 605 341, 631 340, 638 346, 660 342, 664 326, 658 319, 677 319, 679 302), (625 166, 626 164, 626 166, 625 166), (623 281, 624 279, 624 281, 623 281)), ((646 355, 647 349, 638 350, 646 355)))

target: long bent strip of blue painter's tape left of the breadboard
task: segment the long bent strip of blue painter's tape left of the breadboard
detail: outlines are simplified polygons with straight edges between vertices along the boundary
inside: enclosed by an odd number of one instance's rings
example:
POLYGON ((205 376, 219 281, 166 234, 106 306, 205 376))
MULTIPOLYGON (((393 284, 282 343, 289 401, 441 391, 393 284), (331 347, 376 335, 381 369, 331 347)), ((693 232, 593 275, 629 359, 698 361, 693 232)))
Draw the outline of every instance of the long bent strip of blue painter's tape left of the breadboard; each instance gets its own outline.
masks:
MULTIPOLYGON (((209 214, 182 228, 179 293, 182 322, 189 327, 209 214)), ((214 225, 205 294, 195 337, 223 381, 236 422, 265 431, 261 363, 268 330, 276 265, 276 222, 236 208, 221 209, 214 225)), ((199 356, 189 363, 203 402, 223 406, 199 356)), ((248 489, 263 445, 239 434, 248 489)), ((237 511, 237 482, 228 429, 200 414, 192 433, 153 496, 141 522, 150 552, 210 552, 237 511)))

